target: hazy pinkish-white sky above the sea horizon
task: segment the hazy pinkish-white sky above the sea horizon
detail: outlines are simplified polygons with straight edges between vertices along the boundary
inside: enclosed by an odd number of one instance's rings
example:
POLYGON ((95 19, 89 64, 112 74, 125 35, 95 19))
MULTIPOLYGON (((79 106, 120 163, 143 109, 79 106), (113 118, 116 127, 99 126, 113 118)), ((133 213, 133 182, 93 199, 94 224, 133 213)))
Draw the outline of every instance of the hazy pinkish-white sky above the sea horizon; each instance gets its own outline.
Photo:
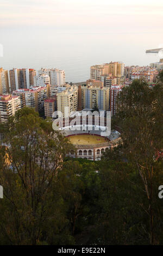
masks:
POLYGON ((0 28, 162 33, 162 0, 1 0, 0 28))

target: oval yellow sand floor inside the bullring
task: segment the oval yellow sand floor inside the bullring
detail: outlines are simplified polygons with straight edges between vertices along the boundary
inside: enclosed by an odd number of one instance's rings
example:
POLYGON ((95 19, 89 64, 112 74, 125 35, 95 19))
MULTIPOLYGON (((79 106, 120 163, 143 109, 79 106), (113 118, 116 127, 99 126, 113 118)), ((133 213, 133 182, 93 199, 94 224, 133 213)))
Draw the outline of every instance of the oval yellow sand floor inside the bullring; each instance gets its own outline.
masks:
POLYGON ((80 135, 72 135, 68 137, 68 140, 72 144, 76 145, 89 145, 89 144, 100 144, 109 141, 109 139, 105 137, 101 137, 98 135, 88 135, 88 134, 80 134, 80 135))

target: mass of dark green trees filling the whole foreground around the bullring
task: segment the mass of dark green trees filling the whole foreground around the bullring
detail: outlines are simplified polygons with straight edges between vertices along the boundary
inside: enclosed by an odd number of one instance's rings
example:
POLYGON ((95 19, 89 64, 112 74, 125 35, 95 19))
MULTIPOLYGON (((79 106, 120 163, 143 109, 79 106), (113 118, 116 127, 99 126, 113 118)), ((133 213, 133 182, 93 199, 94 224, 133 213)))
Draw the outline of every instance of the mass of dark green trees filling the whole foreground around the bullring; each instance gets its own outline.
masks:
POLYGON ((73 145, 34 109, 1 125, 0 245, 162 245, 162 99, 161 77, 123 88, 122 142, 97 162, 67 157, 73 145))

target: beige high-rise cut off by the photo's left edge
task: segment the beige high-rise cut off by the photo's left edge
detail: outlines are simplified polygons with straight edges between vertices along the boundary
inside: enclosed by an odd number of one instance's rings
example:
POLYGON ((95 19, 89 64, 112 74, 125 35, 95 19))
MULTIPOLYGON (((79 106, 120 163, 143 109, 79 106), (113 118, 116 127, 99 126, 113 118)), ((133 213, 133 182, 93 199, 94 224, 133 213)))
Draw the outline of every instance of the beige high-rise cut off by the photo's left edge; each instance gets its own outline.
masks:
POLYGON ((0 68, 0 94, 9 93, 8 70, 0 68))

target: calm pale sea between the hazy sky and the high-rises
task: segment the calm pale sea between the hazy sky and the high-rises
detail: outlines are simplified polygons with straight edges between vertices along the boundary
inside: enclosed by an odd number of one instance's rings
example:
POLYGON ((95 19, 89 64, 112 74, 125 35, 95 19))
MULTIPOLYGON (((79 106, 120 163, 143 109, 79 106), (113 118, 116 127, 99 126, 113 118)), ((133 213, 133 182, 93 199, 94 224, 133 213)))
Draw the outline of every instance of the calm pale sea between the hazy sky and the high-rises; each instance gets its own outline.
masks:
POLYGON ((159 54, 147 49, 162 44, 162 34, 152 33, 78 33, 53 28, 3 28, 0 44, 3 57, 0 67, 57 68, 65 70, 66 82, 84 82, 90 78, 90 66, 109 62, 149 65, 158 62, 159 54))

